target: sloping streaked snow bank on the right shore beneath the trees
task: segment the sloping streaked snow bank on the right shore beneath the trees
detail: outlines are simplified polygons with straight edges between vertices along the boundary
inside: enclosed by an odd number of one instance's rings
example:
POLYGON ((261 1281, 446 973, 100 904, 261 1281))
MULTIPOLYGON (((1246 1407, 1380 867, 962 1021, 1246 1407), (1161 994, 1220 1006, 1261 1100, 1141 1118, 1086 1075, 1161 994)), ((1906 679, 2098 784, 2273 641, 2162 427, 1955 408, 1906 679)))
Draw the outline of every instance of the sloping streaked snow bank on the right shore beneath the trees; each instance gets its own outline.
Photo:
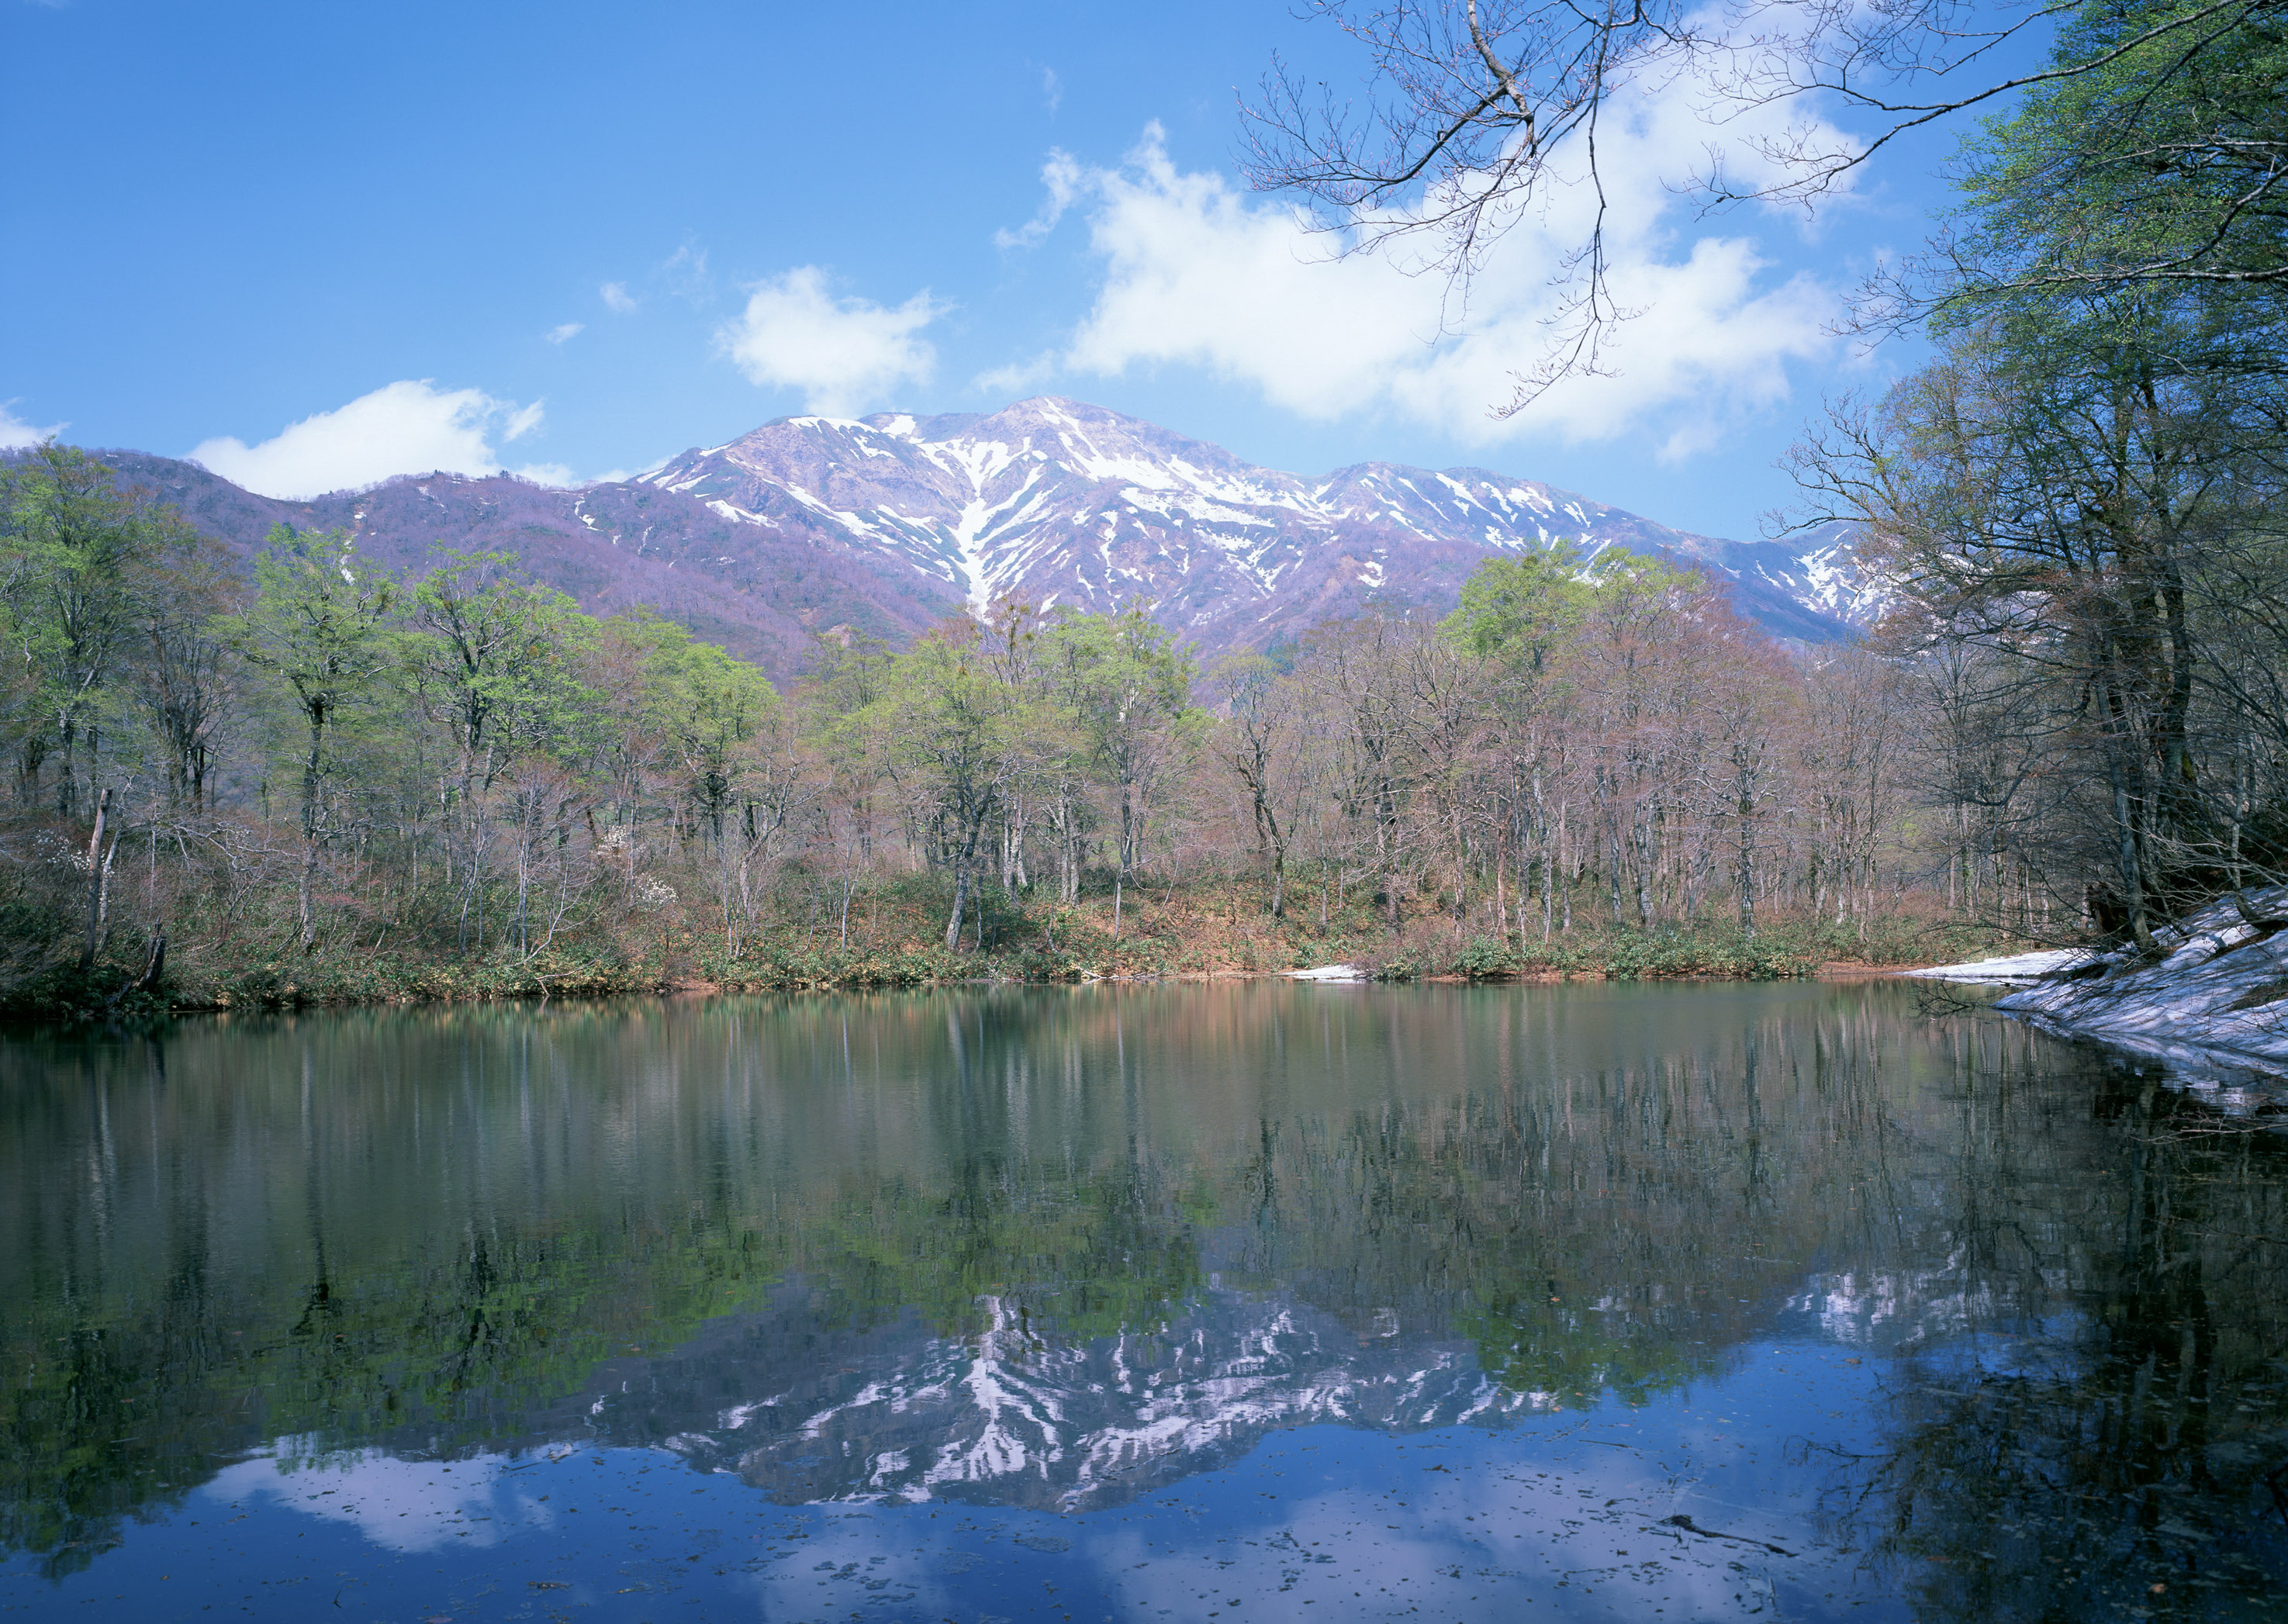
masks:
POLYGON ((2180 1066, 2226 1061, 2288 1080, 2288 885, 2212 901, 2153 940, 2160 958, 2078 954, 1995 1009, 2180 1066))

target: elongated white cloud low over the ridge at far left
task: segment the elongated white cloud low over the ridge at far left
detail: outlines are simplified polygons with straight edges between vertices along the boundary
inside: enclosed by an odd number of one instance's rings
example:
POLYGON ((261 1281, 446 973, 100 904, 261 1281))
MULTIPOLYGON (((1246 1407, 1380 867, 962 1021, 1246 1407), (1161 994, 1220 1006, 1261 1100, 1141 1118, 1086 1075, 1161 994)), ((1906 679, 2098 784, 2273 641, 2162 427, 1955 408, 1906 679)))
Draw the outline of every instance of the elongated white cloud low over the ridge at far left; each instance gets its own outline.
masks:
POLYGON ((394 473, 496 473, 492 437, 522 439, 540 425, 540 403, 519 407, 480 389, 400 380, 345 407, 318 412, 275 439, 247 446, 208 439, 190 453, 227 480, 263 496, 320 496, 394 473))

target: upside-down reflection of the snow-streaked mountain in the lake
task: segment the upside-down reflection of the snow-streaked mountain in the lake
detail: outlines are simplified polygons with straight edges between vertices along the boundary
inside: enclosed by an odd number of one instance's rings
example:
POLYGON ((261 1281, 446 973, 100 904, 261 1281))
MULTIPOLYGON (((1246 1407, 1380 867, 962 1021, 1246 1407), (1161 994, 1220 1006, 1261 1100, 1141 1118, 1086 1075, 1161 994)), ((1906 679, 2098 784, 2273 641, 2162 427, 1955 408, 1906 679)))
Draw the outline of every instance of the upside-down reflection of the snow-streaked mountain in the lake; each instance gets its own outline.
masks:
POLYGON ((1485 1375, 1446 1324, 1366 1336, 1293 1295, 1208 1288, 1162 1324, 1043 1338, 998 1299, 986 1329, 917 1315, 817 1336, 815 1288, 709 1324, 561 1414, 556 1436, 654 1443, 787 1503, 1117 1505, 1311 1423, 1414 1432, 1554 1404, 1485 1375), (728 1395, 739 1395, 725 1402, 728 1395))

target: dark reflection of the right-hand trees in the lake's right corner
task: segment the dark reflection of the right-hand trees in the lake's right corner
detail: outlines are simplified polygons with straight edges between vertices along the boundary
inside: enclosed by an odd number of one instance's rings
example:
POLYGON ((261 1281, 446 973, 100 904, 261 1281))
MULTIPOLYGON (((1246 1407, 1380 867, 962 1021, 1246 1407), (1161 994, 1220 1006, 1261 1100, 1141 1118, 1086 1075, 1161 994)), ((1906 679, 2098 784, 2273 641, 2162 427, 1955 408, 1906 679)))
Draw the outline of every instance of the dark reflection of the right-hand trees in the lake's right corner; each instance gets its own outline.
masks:
POLYGON ((2288 1144, 2151 1070, 2091 1066, 2073 1098, 1981 1048, 1938 1192, 1970 1311, 1899 1368, 1837 1533, 1913 1558, 1931 1617, 2277 1617, 2288 1144))

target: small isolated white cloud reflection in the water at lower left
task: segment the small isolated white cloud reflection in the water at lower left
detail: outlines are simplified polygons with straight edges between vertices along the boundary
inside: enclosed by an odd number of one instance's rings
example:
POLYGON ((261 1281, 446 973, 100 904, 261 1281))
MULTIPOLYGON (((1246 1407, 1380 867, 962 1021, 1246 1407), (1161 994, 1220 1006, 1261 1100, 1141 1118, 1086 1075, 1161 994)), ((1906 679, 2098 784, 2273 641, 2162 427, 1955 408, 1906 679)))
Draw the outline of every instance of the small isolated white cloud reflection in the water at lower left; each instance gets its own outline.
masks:
POLYGON ((270 1455, 222 1468, 199 1494, 229 1505, 270 1500, 288 1512, 355 1523, 391 1551, 490 1546, 510 1530, 551 1528, 554 1514, 531 1491, 506 1482, 503 1455, 460 1462, 407 1462, 378 1450, 297 1459, 293 1439, 270 1455))

